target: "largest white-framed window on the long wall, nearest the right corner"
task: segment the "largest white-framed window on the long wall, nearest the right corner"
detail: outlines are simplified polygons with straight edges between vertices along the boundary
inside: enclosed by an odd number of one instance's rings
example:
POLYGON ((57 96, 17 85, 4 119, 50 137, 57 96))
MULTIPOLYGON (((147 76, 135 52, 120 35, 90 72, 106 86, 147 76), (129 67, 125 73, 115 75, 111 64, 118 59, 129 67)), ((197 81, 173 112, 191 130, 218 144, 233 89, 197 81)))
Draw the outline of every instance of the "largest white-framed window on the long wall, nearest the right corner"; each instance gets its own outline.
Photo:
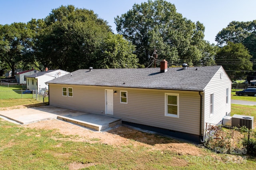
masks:
POLYGON ((179 94, 165 93, 165 116, 179 117, 179 94))

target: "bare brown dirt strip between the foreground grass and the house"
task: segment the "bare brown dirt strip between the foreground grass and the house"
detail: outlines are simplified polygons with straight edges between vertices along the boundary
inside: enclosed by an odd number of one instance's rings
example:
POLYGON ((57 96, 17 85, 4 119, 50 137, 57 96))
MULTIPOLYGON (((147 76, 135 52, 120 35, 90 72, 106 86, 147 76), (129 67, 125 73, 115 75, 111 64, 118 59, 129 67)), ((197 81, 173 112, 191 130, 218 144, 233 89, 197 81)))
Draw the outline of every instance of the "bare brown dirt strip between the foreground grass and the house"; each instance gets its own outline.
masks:
POLYGON ((156 134, 140 132, 139 130, 124 126, 113 128, 107 132, 97 132, 56 119, 22 126, 46 130, 55 129, 61 134, 70 135, 70 138, 65 139, 72 141, 89 143, 101 142, 117 147, 132 144, 134 146, 146 146, 151 150, 170 150, 179 155, 187 154, 198 156, 203 154, 200 148, 197 148, 194 144, 156 134))

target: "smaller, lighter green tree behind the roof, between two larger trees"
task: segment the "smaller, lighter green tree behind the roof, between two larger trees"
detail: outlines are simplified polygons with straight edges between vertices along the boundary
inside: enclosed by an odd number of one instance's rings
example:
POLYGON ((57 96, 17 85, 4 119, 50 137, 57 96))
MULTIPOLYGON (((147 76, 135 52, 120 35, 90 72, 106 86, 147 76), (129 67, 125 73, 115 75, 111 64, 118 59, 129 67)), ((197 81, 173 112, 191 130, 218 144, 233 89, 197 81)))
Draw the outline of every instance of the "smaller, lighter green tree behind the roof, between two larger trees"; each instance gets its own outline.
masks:
POLYGON ((122 35, 108 33, 94 53, 96 68, 137 68, 135 46, 122 35))

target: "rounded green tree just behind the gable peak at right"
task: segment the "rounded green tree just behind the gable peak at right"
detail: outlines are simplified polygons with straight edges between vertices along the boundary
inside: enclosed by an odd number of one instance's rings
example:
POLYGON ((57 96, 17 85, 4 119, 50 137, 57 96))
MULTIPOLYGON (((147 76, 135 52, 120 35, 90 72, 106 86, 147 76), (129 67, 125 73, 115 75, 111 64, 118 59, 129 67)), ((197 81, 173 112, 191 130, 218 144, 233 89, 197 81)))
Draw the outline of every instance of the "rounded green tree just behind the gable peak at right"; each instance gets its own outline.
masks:
POLYGON ((252 70, 252 56, 242 43, 228 42, 216 54, 216 63, 222 65, 231 79, 243 76, 243 71, 252 70))

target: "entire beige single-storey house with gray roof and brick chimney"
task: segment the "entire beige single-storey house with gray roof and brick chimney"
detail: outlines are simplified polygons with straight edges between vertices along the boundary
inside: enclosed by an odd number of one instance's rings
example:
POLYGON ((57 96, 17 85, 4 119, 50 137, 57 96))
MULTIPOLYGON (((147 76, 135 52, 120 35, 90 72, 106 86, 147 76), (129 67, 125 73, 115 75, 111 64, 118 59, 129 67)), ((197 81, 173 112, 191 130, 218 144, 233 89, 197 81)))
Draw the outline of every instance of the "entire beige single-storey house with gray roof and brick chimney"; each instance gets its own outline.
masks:
POLYGON ((222 66, 80 69, 48 81, 49 103, 179 138, 204 140, 206 123, 231 111, 231 80, 222 66))

